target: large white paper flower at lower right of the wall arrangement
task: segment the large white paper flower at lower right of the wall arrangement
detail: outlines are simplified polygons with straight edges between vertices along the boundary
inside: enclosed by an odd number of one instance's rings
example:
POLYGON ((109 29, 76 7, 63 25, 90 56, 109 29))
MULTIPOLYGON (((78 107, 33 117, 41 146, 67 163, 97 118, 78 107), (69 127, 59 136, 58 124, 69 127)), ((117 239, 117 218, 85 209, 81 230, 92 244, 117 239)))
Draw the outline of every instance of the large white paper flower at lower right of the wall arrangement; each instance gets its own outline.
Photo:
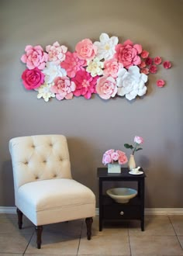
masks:
POLYGON ((139 67, 132 66, 126 71, 122 68, 118 72, 117 87, 119 96, 126 96, 126 99, 132 100, 136 95, 142 96, 147 92, 145 83, 147 82, 147 75, 141 74, 139 67))

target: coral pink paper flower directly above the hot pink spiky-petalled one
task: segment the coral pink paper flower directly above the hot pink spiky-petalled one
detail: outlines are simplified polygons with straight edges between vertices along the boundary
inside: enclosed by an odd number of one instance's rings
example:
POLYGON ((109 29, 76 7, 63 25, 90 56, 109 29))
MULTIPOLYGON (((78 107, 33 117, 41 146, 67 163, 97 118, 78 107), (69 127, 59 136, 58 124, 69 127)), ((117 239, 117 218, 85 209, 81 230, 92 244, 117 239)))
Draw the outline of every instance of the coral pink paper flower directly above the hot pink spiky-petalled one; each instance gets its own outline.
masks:
POLYGON ((78 71, 84 71, 84 66, 86 65, 85 60, 78 58, 78 55, 74 52, 71 53, 67 51, 65 60, 60 63, 60 66, 67 71, 67 76, 69 78, 74 78, 78 71))

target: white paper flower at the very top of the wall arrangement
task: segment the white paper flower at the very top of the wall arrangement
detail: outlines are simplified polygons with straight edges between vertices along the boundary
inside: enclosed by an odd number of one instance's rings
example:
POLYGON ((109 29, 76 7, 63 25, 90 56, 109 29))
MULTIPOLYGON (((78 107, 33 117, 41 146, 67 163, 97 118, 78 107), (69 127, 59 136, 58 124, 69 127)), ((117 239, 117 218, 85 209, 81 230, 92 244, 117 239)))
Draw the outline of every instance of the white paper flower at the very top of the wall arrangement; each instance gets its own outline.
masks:
POLYGON ((116 53, 115 47, 118 43, 118 37, 112 36, 109 38, 108 34, 102 33, 99 37, 100 42, 96 41, 94 44, 98 47, 97 56, 99 60, 109 60, 116 53))

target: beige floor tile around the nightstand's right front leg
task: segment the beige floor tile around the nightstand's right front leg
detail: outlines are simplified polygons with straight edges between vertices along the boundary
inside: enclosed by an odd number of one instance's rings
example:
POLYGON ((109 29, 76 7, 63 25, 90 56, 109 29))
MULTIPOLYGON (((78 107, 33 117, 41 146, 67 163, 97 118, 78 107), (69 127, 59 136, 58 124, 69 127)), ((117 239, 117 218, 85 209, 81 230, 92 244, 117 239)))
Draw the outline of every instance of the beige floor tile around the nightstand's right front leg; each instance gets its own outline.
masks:
POLYGON ((167 235, 175 235, 174 228, 170 220, 158 220, 154 219, 146 219, 145 220, 145 230, 142 232, 139 227, 139 221, 131 221, 129 223, 129 235, 138 234, 140 236, 148 236, 148 235, 157 235, 157 236, 167 236, 167 235))

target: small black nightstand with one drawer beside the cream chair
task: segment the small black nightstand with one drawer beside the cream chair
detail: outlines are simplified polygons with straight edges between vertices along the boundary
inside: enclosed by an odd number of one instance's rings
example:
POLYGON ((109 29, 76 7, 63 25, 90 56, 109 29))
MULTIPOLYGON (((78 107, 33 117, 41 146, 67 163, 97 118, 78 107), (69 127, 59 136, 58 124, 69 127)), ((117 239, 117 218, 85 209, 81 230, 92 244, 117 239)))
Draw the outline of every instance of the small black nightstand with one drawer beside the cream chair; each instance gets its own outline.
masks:
MULTIPOLYGON (((99 178, 99 231, 104 220, 140 220, 144 230, 144 183, 146 175, 130 175, 128 168, 121 168, 121 173, 108 173, 107 168, 97 168, 99 178), (118 203, 103 194, 103 182, 137 182, 137 195, 127 203, 118 203)), ((140 168, 140 171, 143 171, 140 168)), ((125 186, 124 186, 125 187, 125 186)))

